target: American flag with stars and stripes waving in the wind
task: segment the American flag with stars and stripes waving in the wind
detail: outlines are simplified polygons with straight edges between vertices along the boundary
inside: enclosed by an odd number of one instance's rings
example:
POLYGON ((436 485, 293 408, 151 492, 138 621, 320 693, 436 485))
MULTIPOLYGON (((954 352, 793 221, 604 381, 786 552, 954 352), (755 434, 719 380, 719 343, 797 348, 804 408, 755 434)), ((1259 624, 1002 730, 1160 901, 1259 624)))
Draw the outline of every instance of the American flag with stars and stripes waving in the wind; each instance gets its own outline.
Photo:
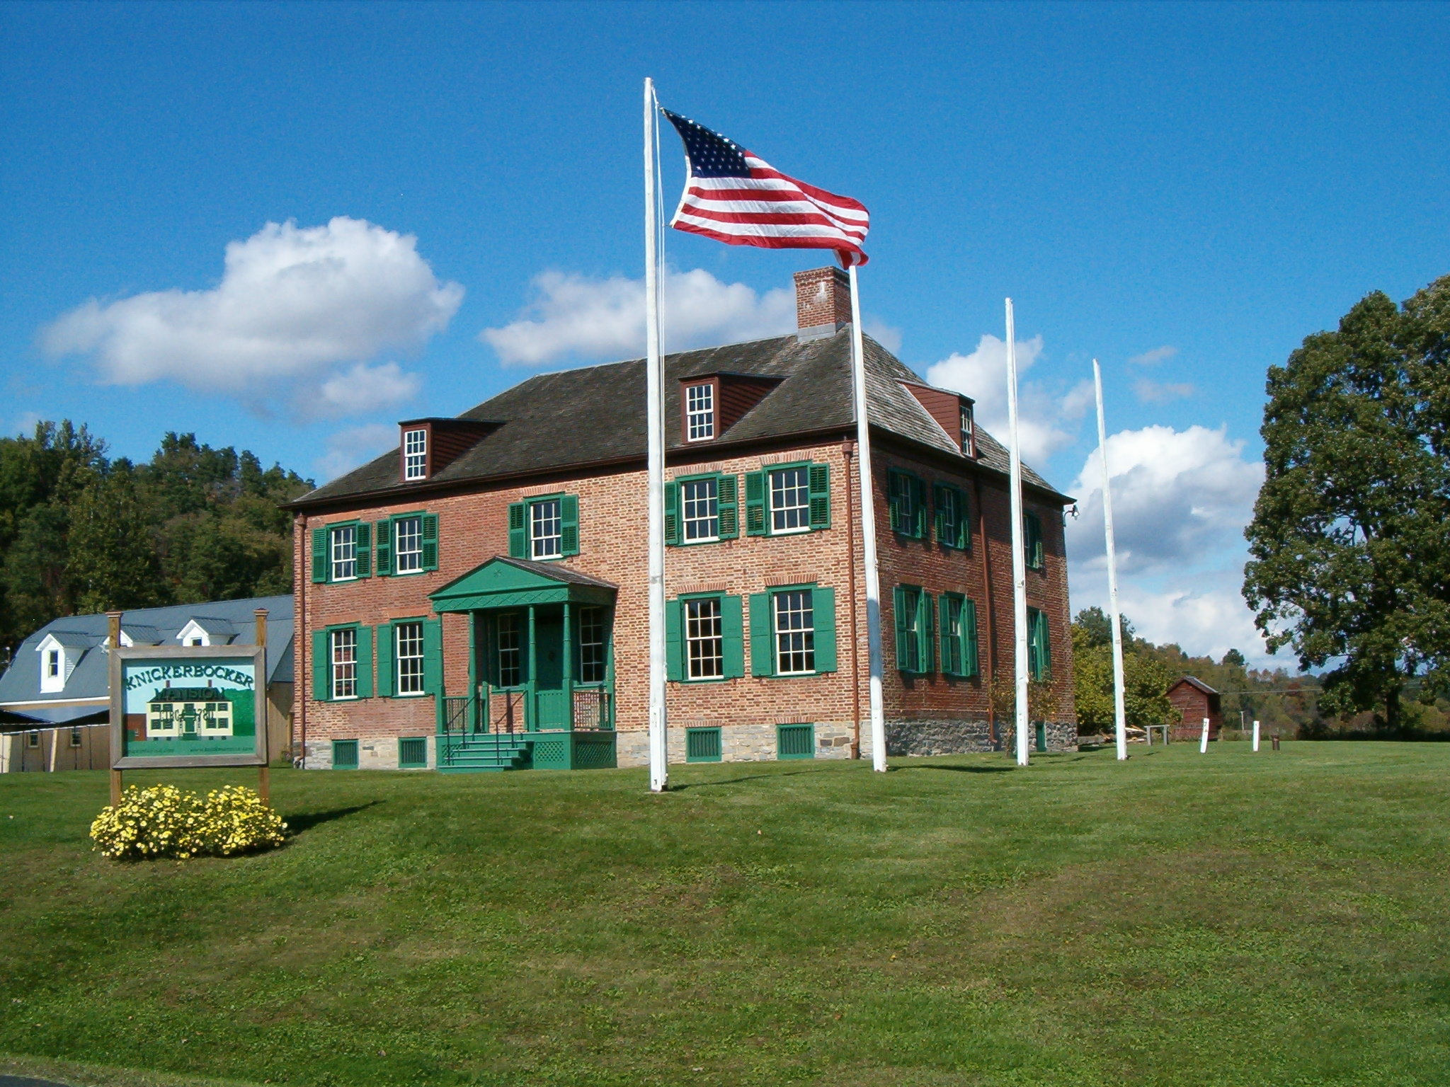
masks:
POLYGON ((835 249, 842 265, 866 264, 871 216, 858 201, 786 177, 745 148, 670 110, 690 177, 670 220, 676 230, 726 245, 835 249))

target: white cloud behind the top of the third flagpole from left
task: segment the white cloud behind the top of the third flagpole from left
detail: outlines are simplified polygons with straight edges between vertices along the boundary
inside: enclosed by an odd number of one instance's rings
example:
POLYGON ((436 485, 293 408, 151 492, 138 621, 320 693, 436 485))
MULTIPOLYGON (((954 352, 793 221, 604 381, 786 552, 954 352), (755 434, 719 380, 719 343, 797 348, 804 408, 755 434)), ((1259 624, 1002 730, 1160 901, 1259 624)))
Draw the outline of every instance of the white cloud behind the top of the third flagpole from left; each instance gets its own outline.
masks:
MULTIPOLYGON (((1016 342, 1016 416, 1022 459, 1041 464, 1073 441, 1063 425, 1080 419, 1092 403, 1092 384, 1079 384, 1066 396, 1053 396, 1044 386, 1022 375, 1043 357, 1043 338, 1016 342)), ((986 335, 969 355, 953 352, 927 368, 927 381, 953 388, 976 400, 976 417, 992 436, 1006 442, 1006 341, 986 335)))

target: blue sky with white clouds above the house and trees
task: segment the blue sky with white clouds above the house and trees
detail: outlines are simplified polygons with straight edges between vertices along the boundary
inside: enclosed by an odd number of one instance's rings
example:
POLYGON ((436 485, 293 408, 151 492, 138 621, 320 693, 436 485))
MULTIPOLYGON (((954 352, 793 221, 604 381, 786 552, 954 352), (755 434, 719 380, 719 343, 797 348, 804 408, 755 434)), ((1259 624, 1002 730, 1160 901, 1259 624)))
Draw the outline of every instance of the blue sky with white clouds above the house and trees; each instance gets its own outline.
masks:
MULTIPOLYGON (((1450 272, 1446 57, 1443 4, 9 3, 0 426, 130 457, 196 430, 322 480, 397 419, 631 354, 652 75, 871 209, 867 323, 989 426, 1015 299, 1031 452, 1082 499, 1074 604, 1103 594, 1101 358, 1128 613, 1260 657, 1264 370, 1450 272)), ((673 142, 664 170, 673 200, 673 142)), ((774 329, 821 264, 667 259, 676 345, 774 329)))

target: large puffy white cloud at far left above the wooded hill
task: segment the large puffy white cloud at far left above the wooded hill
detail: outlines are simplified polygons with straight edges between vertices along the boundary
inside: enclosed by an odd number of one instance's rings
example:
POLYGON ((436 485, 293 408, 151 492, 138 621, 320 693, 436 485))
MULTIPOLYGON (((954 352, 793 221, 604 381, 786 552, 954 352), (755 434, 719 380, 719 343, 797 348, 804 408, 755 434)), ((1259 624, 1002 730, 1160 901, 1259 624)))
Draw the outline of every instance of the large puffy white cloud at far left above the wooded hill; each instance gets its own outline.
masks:
POLYGON ((267 223, 228 243, 212 290, 91 299, 44 328, 41 345, 93 355, 110 384, 173 380, 262 404, 336 364, 420 348, 461 301, 413 235, 345 216, 267 223))

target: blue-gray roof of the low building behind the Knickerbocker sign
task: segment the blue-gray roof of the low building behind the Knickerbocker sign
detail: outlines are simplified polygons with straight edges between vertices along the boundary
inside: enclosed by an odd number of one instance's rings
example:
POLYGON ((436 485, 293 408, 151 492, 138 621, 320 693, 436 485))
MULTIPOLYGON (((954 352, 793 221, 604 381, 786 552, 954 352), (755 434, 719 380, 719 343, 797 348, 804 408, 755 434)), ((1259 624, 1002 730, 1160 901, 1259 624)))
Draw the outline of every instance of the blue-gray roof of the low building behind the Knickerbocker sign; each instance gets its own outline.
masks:
MULTIPOLYGON (((254 600, 213 600, 203 604, 177 604, 174 607, 138 607, 126 612, 122 628, 154 632, 155 645, 177 645, 175 636, 197 613, 231 623, 241 632, 238 644, 252 644, 254 612, 267 609, 267 665, 268 683, 291 683, 291 597, 268 596, 254 600), (130 620, 135 620, 132 623, 130 620)), ((0 675, 0 709, 6 703, 30 701, 74 701, 77 699, 102 699, 106 696, 107 655, 102 649, 109 632, 104 615, 72 615, 55 619, 26 638, 14 651, 14 658, 4 675, 0 675), (55 694, 41 693, 41 657, 36 652, 46 635, 55 635, 67 649, 78 649, 80 659, 65 681, 65 690, 55 694)), ((138 645, 146 644, 136 639, 138 645)))

